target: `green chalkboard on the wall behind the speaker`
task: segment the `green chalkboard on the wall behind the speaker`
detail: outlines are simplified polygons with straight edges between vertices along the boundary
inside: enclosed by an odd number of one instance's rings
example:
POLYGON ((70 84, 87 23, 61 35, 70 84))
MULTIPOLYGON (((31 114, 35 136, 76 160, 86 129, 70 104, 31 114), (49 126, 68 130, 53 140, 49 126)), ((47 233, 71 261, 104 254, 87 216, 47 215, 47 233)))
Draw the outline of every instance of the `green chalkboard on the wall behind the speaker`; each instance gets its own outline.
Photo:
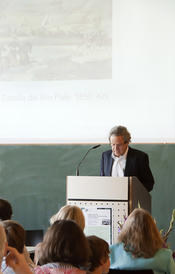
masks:
MULTIPOLYGON (((167 229, 175 208, 175 144, 132 144, 149 155, 155 178, 152 214, 160 229, 167 229)), ((66 176, 91 145, 2 145, 0 146, 0 196, 9 200, 13 219, 25 229, 46 229, 49 218, 65 204, 66 176)), ((80 166, 80 175, 99 175, 102 145, 90 151, 80 166)), ((175 248, 175 232, 171 247, 175 248), (174 243, 173 243, 174 242, 174 243)))

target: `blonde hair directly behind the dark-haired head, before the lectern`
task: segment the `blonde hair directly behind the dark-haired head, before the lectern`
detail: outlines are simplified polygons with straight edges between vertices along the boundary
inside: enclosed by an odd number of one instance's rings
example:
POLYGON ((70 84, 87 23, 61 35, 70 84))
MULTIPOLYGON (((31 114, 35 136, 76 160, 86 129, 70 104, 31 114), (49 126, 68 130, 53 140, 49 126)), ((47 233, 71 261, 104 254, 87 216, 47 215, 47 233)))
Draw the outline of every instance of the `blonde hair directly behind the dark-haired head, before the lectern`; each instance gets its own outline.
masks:
POLYGON ((76 222, 82 230, 85 227, 85 218, 82 210, 75 205, 63 206, 55 215, 50 218, 50 224, 52 225, 58 220, 72 220, 76 222))

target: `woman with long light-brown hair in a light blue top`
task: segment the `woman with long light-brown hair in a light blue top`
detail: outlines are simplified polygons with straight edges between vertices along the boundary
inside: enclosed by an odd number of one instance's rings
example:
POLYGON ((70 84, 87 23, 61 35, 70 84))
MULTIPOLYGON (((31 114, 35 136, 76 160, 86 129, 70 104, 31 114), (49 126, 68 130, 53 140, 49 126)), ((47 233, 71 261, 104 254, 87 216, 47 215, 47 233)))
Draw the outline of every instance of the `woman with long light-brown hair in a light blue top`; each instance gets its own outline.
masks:
POLYGON ((164 241, 151 215, 137 208, 128 216, 110 248, 112 269, 152 269, 156 273, 175 273, 172 251, 163 248, 164 241))

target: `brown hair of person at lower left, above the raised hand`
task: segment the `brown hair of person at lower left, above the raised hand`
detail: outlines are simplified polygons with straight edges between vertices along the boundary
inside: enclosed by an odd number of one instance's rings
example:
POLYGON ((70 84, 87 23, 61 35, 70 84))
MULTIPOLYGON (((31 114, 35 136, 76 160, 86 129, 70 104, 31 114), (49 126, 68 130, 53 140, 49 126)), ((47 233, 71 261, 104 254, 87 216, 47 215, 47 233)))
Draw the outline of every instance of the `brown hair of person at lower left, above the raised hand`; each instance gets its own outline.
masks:
POLYGON ((8 245, 15 247, 19 253, 23 253, 25 244, 24 228, 13 220, 2 221, 1 224, 5 229, 8 245))

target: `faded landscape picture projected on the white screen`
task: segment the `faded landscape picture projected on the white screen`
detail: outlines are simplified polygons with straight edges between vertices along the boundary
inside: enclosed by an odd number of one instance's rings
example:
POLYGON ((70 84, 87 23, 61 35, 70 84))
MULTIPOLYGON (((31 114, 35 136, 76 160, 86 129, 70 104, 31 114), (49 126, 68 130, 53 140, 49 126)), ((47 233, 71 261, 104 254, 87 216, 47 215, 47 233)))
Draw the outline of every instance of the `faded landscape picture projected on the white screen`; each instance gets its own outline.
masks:
POLYGON ((112 0, 4 0, 0 10, 0 81, 112 77, 112 0))

